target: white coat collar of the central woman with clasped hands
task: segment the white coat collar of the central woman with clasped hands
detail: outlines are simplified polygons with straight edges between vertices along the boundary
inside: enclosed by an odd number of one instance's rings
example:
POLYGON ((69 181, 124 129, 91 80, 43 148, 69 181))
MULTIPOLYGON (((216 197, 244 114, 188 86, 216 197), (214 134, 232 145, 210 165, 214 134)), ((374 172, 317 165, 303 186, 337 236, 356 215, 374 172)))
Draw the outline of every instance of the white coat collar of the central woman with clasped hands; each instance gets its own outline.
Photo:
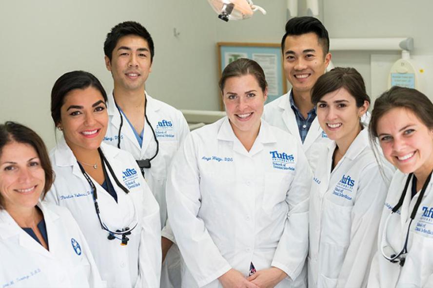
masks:
POLYGON ((260 129, 258 131, 256 141, 254 142, 250 151, 247 152, 245 147, 240 143, 239 139, 237 139, 235 132, 230 125, 229 118, 225 116, 219 121, 221 122, 221 125, 216 138, 222 141, 233 142, 233 150, 241 154, 253 156, 263 149, 263 144, 276 143, 276 138, 272 134, 271 126, 266 121, 261 119, 260 129))

